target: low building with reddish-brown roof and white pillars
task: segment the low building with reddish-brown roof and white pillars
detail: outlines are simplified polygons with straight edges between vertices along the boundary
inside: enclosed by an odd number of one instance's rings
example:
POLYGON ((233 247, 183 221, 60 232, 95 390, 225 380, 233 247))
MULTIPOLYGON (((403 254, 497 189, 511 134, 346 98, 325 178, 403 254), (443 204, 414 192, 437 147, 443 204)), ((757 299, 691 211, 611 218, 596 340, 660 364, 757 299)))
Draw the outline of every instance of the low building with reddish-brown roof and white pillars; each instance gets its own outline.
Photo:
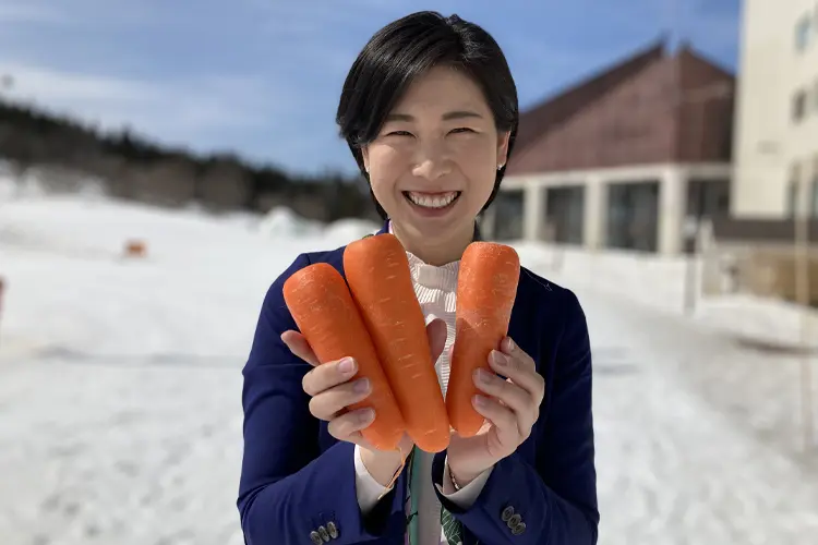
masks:
POLYGON ((730 207, 734 83, 659 41, 524 111, 486 231, 683 252, 686 220, 730 207))

